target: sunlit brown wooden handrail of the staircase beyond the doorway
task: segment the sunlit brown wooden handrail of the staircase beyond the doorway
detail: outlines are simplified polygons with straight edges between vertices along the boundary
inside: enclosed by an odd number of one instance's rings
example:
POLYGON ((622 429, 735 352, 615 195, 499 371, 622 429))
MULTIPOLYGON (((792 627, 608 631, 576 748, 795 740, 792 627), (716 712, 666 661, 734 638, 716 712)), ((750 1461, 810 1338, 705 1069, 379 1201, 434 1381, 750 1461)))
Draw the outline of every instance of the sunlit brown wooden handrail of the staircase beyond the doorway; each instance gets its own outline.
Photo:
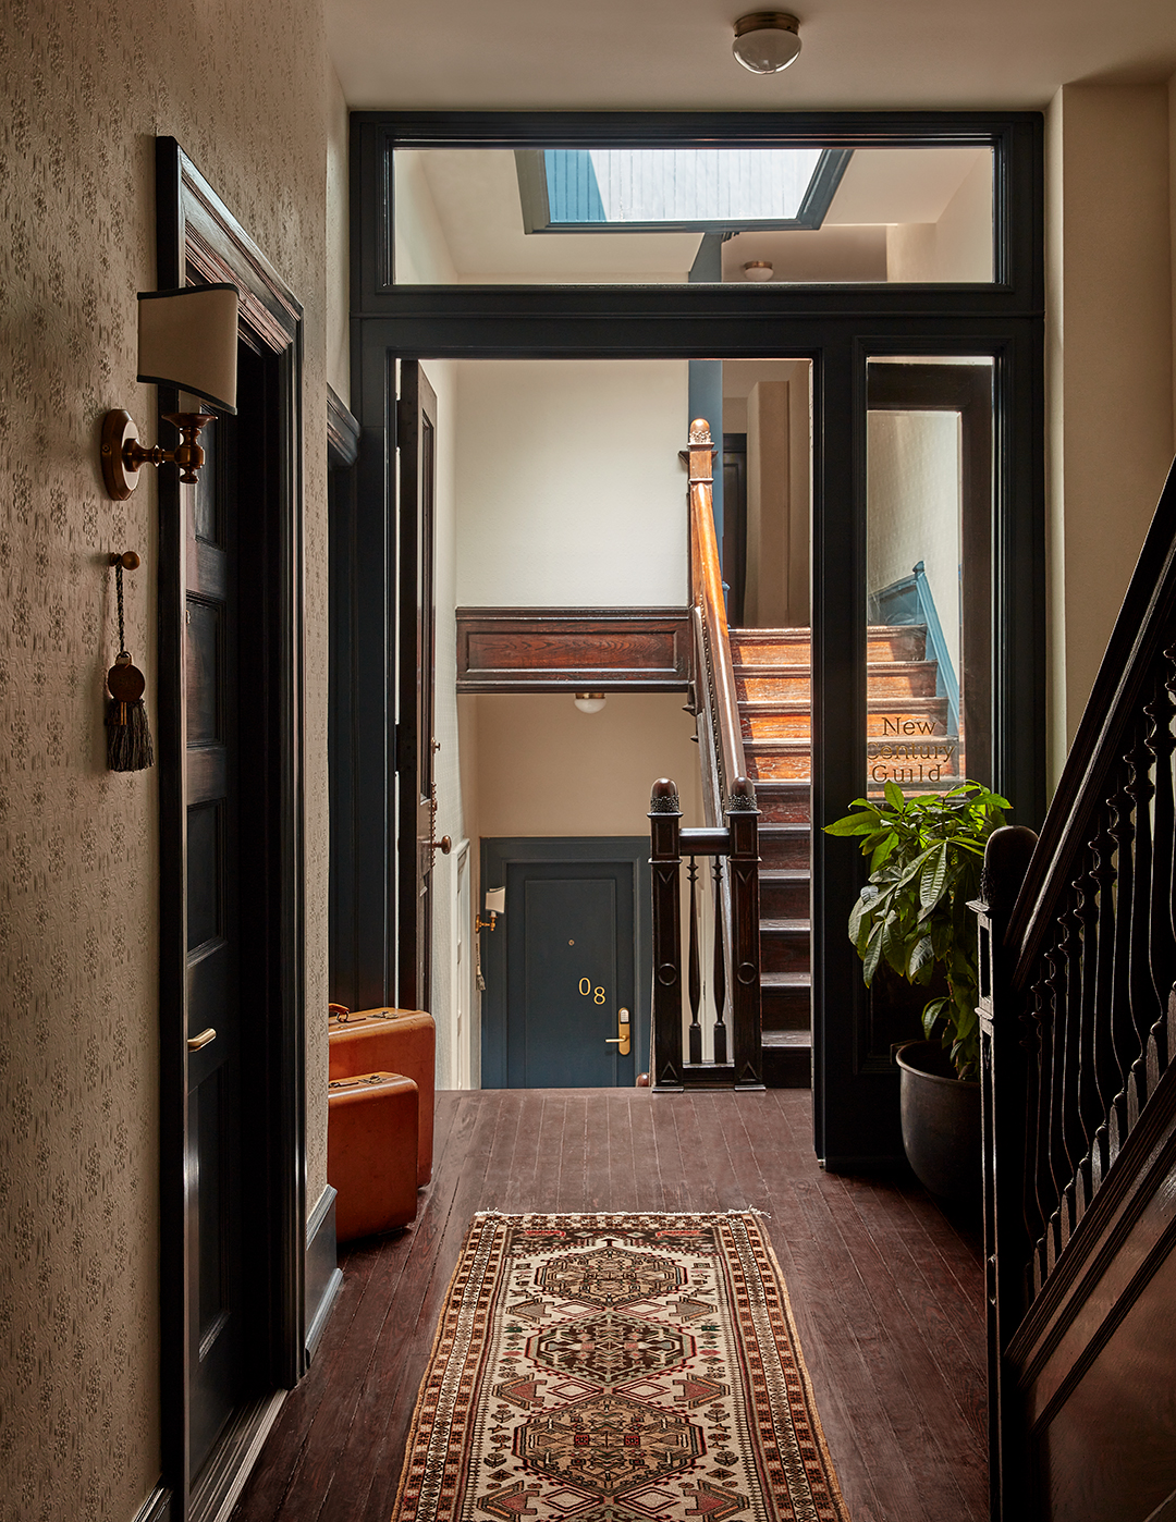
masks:
POLYGON ((712 460, 715 449, 704 419, 691 423, 691 613, 695 629, 695 699, 707 714, 714 741, 707 820, 721 823, 739 778, 747 776, 735 670, 727 638, 727 603, 715 536, 712 460))

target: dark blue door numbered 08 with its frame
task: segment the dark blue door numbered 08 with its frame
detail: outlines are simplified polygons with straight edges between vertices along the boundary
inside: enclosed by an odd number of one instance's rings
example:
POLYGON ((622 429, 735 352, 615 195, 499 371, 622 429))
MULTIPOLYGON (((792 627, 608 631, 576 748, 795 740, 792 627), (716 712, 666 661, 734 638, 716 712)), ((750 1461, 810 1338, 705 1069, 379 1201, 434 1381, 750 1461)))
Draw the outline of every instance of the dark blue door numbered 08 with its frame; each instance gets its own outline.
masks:
POLYGON ((482 931, 482 1084, 630 1087, 648 1065, 648 843, 485 846, 482 884, 507 889, 507 910, 482 931))

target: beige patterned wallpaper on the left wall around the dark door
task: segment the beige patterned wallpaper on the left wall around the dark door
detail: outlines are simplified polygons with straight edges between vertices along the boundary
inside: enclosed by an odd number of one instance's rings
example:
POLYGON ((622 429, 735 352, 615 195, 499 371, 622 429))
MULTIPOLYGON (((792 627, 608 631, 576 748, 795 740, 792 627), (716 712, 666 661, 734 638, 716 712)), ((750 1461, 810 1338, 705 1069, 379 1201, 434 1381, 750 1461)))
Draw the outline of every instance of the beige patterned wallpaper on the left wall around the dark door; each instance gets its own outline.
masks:
MULTIPOLYGON (((110 502, 175 135, 306 307, 307 1006, 326 1001, 324 195, 318 0, 0 12, 0 1522, 129 1522, 158 1475, 157 784, 103 766, 111 548, 154 694, 155 495, 110 502)), ((310 1202, 326 1181, 310 1043, 310 1202)))

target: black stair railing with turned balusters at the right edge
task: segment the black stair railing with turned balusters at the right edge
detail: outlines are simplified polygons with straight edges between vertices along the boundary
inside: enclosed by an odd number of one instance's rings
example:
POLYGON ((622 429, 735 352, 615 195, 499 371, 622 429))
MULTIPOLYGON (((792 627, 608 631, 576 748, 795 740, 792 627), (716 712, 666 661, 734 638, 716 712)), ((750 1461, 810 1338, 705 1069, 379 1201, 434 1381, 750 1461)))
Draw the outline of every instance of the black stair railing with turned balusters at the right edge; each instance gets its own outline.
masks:
POLYGON ((1176 467, 1041 839, 992 836, 977 906, 993 1516, 1015 1514, 1018 1348, 1176 1103, 1174 723, 1176 467))

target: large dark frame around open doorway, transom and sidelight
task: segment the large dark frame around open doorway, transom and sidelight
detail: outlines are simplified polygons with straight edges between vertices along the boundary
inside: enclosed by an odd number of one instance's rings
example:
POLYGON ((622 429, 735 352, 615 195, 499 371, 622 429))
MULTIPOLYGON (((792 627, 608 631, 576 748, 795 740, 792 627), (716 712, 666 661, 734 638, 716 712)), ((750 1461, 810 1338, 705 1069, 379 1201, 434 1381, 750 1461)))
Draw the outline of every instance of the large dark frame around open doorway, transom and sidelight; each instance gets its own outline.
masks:
MULTIPOLYGON (((1013 799, 1019 823, 1038 825, 1045 813, 1042 135, 1038 113, 354 113, 353 406, 362 428, 359 492, 370 514, 383 521, 386 534, 396 447, 388 380, 397 356, 811 359, 812 817, 820 825, 844 813, 866 776, 866 359, 992 355, 993 784, 1013 799), (992 148, 995 280, 755 288, 393 283, 394 148, 599 142, 992 148)), ((368 563, 374 572, 379 557, 368 563)), ((373 688, 371 702, 377 697, 373 688)), ((887 1056, 869 1049, 866 989, 844 933, 864 863, 852 842, 815 829, 812 868, 815 1148, 826 1166, 852 1169, 899 1152, 896 1076, 887 1056)))

